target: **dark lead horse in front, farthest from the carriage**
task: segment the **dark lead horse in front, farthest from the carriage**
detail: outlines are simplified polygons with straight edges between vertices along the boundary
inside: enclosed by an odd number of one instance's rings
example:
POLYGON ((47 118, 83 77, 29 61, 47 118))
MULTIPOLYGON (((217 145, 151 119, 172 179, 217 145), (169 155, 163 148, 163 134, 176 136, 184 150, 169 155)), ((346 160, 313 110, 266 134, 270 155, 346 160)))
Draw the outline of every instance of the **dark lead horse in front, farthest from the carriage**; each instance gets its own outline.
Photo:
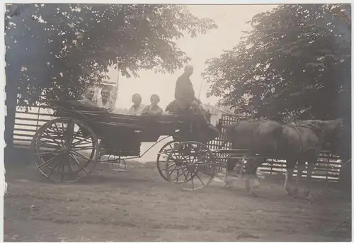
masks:
POLYGON ((300 188, 302 171, 307 162, 307 183, 304 186, 304 196, 311 198, 310 184, 312 170, 327 142, 333 140, 338 132, 343 130, 343 119, 336 120, 305 120, 298 123, 282 125, 283 157, 287 162, 285 191, 288 195, 297 197, 300 188), (292 173, 297 164, 297 179, 294 185, 292 173))

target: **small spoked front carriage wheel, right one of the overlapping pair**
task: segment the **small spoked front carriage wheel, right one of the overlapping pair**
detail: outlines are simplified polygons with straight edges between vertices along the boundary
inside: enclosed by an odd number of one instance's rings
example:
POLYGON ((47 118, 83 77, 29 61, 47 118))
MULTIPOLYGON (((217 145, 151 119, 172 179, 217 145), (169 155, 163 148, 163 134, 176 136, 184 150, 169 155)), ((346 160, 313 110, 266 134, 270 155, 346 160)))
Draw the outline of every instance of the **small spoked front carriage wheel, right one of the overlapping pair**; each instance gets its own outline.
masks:
POLYGON ((166 159, 166 177, 171 183, 182 183, 184 190, 207 186, 215 176, 216 162, 212 151, 201 142, 182 142, 166 159))

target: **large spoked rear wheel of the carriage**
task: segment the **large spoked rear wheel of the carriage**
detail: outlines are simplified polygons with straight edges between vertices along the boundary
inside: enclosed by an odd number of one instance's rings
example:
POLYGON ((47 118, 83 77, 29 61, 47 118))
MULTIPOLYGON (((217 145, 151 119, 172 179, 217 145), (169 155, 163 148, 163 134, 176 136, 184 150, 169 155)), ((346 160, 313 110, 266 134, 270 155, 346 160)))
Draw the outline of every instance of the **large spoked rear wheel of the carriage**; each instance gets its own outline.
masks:
POLYGON ((42 125, 31 148, 35 167, 55 182, 73 182, 89 174, 100 158, 95 132, 74 118, 57 118, 42 125))

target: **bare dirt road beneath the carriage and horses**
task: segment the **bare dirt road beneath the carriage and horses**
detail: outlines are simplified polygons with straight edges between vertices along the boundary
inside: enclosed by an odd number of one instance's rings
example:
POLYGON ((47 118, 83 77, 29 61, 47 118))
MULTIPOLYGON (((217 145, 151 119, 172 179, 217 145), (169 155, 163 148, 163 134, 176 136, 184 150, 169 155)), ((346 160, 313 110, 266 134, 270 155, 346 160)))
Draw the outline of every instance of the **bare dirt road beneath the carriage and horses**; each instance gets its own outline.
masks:
POLYGON ((217 181, 181 191, 154 164, 129 166, 124 173, 98 164, 59 185, 32 164, 6 162, 4 241, 351 241, 350 195, 338 186, 316 185, 312 203, 288 198, 269 179, 258 197, 217 181))

